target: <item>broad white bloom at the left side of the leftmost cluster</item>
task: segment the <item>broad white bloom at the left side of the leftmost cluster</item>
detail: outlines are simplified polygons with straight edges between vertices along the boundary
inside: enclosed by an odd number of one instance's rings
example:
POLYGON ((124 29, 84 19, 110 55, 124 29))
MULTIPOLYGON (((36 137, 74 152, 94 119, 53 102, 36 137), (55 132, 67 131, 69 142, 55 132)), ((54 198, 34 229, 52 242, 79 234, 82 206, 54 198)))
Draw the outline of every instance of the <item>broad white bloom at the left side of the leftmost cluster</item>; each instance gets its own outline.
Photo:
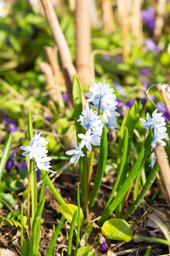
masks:
POLYGON ((44 157, 46 153, 48 153, 48 150, 45 147, 37 146, 36 141, 34 141, 33 143, 30 142, 30 146, 20 146, 20 149, 25 150, 22 155, 29 155, 29 160, 31 160, 33 157, 35 160, 39 159, 41 157, 44 157))

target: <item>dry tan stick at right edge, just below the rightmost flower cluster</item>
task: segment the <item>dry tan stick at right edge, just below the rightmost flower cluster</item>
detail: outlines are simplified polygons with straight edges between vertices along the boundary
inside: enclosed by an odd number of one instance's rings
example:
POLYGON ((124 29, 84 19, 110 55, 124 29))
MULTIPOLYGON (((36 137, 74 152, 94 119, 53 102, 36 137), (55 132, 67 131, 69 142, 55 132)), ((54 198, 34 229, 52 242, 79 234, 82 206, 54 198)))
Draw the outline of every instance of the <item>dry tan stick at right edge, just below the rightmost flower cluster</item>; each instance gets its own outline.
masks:
POLYGON ((160 142, 157 141, 153 148, 155 150, 155 156, 166 189, 166 201, 170 205, 170 166, 167 155, 160 142))

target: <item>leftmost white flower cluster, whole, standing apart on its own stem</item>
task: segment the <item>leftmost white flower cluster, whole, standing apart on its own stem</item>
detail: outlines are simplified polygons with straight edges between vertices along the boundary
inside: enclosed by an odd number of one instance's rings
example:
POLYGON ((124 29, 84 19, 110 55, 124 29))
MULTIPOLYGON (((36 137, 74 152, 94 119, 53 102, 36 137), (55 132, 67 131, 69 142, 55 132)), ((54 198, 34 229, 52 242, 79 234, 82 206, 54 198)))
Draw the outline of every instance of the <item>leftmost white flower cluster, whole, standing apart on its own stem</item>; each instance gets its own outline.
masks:
POLYGON ((48 141, 44 137, 41 137, 42 132, 37 134, 37 131, 35 131, 34 137, 31 139, 29 146, 20 146, 20 149, 25 150, 24 153, 22 153, 23 156, 29 155, 29 160, 35 159, 35 163, 37 164, 37 167, 40 170, 45 171, 51 171, 49 168, 51 157, 47 156, 48 150, 46 149, 46 144, 48 144, 48 141))

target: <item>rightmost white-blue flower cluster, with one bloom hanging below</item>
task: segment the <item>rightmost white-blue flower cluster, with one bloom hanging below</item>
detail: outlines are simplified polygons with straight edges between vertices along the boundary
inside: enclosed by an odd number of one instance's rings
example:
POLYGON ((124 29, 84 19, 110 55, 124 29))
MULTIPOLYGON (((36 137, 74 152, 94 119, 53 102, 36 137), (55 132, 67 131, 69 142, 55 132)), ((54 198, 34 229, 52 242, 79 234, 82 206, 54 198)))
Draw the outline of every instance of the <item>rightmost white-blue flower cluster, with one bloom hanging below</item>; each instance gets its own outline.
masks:
MULTIPOLYGON (((163 141, 162 139, 165 139, 168 134, 166 133, 167 128, 164 127, 166 125, 165 118, 162 117, 161 113, 157 113, 157 109, 153 112, 152 118, 150 117, 149 113, 146 114, 146 120, 143 118, 140 118, 140 121, 144 124, 144 128, 148 128, 148 131, 152 128, 154 128, 154 134, 153 134, 153 139, 152 139, 152 149, 153 150, 153 144, 156 143, 156 141, 159 141, 162 146, 166 145, 166 142, 163 141)), ((155 158, 155 153, 151 153, 151 168, 153 168, 153 165, 155 164, 156 158, 155 158)))

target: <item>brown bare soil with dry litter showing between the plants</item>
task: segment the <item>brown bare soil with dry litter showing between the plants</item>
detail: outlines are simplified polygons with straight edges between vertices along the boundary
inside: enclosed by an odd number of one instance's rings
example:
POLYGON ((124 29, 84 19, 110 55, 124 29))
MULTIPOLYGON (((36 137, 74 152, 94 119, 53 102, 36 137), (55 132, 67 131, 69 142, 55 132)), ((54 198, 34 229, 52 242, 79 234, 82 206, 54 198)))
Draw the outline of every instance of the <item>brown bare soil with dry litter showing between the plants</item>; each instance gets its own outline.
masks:
MULTIPOLYGON (((102 185, 98 194, 97 201, 94 205, 94 208, 91 213, 91 219, 94 220, 98 218, 109 198, 109 194, 111 192, 111 187, 113 186, 114 177, 112 174, 107 175, 103 178, 102 185)), ((76 189, 77 184, 79 183, 79 175, 75 173, 67 173, 60 175, 57 180, 55 180, 54 185, 60 191, 61 195, 65 199, 66 202, 76 204, 76 189)), ((92 184, 93 185, 93 184, 92 184)), ((152 198, 153 193, 157 190, 157 184, 153 184, 152 188, 148 192, 148 200, 149 203, 150 198, 152 198)), ((44 207, 44 212, 42 218, 44 218, 44 223, 41 225, 41 242, 39 247, 39 256, 44 256, 46 254, 46 250, 49 246, 50 239, 52 237, 52 225, 57 225, 61 214, 59 213, 57 207, 58 202, 52 195, 51 191, 46 187, 45 189, 46 203, 44 207)), ((16 202, 16 208, 19 209, 19 203, 16 202), (18 204, 18 206, 17 206, 18 204)), ((128 205, 131 204, 131 195, 128 200, 128 205)), ((126 208, 127 209, 127 208, 126 208)), ((162 198, 161 194, 158 193, 157 197, 150 205, 146 204, 144 201, 138 209, 133 213, 133 215, 127 220, 131 227, 133 228, 133 235, 140 236, 149 236, 149 237, 157 237, 165 239, 161 230, 148 218, 142 218, 148 213, 148 210, 151 214, 157 216, 163 221, 170 220, 170 207, 166 204, 165 200, 162 198), (150 208, 150 209, 149 209, 150 208)), ((7 209, 1 209, 0 215, 6 215, 7 209)), ((111 216, 114 217, 114 214, 111 216)), ((97 222, 97 221, 96 221, 97 222)), ((170 224, 166 224, 170 229, 170 224)), ((60 237, 57 239, 57 243, 55 246, 55 255, 67 255, 67 245, 68 245, 68 234, 69 234, 70 225, 65 222, 63 229, 61 231, 60 237), (63 252, 63 254, 62 254, 63 252)), ((94 238, 101 229, 94 225, 94 229, 88 239, 89 245, 92 245, 94 238)), ((25 232, 25 237, 27 233, 25 232)), ((155 244, 155 243, 144 243, 139 240, 132 239, 129 243, 118 241, 118 240, 107 240, 107 244, 109 247, 109 254, 106 251, 102 251, 99 247, 95 252, 96 256, 100 255, 108 255, 108 256, 116 256, 116 255, 128 255, 128 256, 145 256, 146 250, 149 247, 151 252, 150 256, 159 256, 159 255, 169 255, 168 246, 155 244)), ((0 247, 5 249, 10 249, 16 252, 15 255, 20 254, 20 228, 4 226, 0 228, 0 247)), ((12 256, 12 254, 7 253, 3 255, 12 256)), ((2 256, 3 256, 2 255, 2 256)))

